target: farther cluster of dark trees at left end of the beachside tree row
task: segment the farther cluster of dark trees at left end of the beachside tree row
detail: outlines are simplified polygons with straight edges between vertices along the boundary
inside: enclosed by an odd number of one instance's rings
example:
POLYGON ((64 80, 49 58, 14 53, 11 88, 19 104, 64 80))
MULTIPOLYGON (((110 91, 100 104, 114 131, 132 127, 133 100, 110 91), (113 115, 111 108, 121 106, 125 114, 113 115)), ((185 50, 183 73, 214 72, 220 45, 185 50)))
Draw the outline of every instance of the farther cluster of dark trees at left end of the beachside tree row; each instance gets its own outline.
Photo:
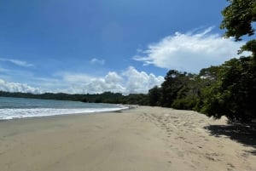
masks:
POLYGON ((195 74, 171 70, 161 87, 148 91, 149 105, 192 110, 197 105, 200 81, 195 74))

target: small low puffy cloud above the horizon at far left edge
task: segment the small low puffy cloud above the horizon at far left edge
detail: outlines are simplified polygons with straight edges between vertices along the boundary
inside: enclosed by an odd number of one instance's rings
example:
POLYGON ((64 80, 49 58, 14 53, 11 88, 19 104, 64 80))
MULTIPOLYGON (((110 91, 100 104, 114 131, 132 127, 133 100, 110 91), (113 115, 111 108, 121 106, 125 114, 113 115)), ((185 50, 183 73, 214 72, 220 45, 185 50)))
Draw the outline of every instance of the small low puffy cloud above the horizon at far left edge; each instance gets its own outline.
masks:
POLYGON ((40 94, 42 93, 40 88, 33 88, 24 83, 9 83, 0 79, 0 90, 7 92, 21 92, 21 93, 32 93, 40 94))

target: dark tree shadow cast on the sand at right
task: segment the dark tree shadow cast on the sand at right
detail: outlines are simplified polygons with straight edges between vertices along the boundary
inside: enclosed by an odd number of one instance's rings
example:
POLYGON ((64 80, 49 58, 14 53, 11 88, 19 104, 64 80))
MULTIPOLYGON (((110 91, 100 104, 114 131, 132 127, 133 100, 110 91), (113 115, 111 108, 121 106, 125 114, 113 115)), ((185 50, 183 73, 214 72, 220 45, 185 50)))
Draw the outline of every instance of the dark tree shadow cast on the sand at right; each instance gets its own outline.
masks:
POLYGON ((256 124, 210 125, 204 128, 209 130, 213 136, 225 135, 231 140, 253 147, 253 151, 247 152, 256 156, 256 124))

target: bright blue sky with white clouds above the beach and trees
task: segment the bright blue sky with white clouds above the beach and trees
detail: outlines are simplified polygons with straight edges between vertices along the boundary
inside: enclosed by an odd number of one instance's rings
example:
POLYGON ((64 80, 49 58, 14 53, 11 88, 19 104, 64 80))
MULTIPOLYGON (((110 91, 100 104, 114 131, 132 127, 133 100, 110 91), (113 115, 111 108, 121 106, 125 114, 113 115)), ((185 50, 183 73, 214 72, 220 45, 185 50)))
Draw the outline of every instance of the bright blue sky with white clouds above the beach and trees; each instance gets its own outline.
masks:
POLYGON ((133 94, 237 57, 225 0, 1 0, 0 90, 133 94))

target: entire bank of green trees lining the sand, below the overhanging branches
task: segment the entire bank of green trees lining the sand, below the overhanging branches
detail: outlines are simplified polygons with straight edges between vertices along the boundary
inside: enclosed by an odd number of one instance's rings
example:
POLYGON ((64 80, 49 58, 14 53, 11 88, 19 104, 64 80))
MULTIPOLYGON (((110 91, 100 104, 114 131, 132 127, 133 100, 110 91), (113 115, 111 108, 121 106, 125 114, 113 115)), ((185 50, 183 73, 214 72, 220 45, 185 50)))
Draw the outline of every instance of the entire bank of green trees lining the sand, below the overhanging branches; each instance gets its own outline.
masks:
POLYGON ((195 110, 230 122, 256 119, 256 62, 253 56, 210 66, 199 75, 168 71, 161 87, 148 91, 149 105, 195 110))

